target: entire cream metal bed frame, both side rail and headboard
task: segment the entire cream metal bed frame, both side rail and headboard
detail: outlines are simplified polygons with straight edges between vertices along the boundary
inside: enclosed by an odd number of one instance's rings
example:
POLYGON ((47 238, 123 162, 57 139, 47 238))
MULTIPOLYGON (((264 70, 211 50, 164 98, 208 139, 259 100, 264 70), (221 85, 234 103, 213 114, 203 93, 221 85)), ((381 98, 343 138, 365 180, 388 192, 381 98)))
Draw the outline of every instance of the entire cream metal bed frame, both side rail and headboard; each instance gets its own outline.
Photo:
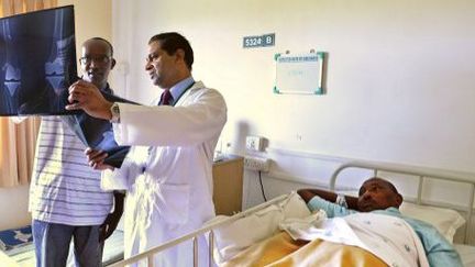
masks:
MULTIPOLYGON (((365 170, 372 170, 374 176, 378 176, 380 175, 382 171, 384 173, 389 173, 389 174, 399 174, 399 175, 406 175, 408 177, 415 177, 415 179, 418 179, 418 190, 417 190, 417 198, 415 199, 405 199, 405 201, 408 202, 415 202, 417 204, 422 204, 422 205, 432 205, 432 207, 441 207, 441 208, 450 208, 450 209, 454 209, 457 211, 462 211, 462 212, 466 212, 466 227, 464 231, 464 243, 467 244, 468 243, 468 237, 471 232, 470 229, 472 227, 472 216, 473 216, 473 205, 474 205, 474 194, 475 194, 475 174, 468 174, 468 173, 455 173, 455 171, 448 171, 448 170, 442 170, 442 169, 431 169, 431 168, 421 168, 421 167, 416 167, 416 166, 408 166, 408 165, 396 165, 396 164, 386 164, 386 163, 376 163, 376 162, 350 162, 346 164, 342 164, 340 167, 338 167, 330 180, 330 186, 329 188, 331 190, 334 191, 335 189, 335 185, 336 185, 336 178, 339 177, 339 175, 342 174, 343 170, 346 169, 351 169, 351 168, 356 168, 356 169, 365 169, 365 170), (433 201, 428 201, 423 199, 422 196, 422 187, 424 183, 424 180, 427 179, 437 179, 437 180, 444 180, 444 181, 451 181, 451 182, 462 182, 462 183, 466 183, 470 186, 471 191, 470 191, 470 196, 468 196, 468 201, 466 203, 466 205, 464 207, 460 207, 460 205, 452 205, 452 204, 446 204, 446 203, 439 203, 439 202, 433 202, 433 201)), ((386 175, 385 175, 386 176, 386 175)), ((274 203, 277 203, 284 199, 287 198, 288 194, 284 194, 280 197, 277 197, 275 199, 272 199, 265 203, 262 203, 259 205, 256 205, 252 209, 248 209, 246 211, 240 212, 233 216, 230 216, 225 220, 209 224, 205 227, 201 227, 195 232, 191 232, 187 235, 184 235, 177 240, 167 242, 163 245, 153 247, 151 249, 148 249, 147 252, 134 255, 130 258, 126 258, 122 262, 115 263, 113 265, 110 265, 111 267, 122 267, 122 266, 126 266, 130 264, 134 264, 137 263, 140 260, 144 260, 147 259, 147 266, 148 267, 154 267, 154 263, 153 263, 153 256, 157 253, 161 253, 162 251, 165 251, 169 247, 173 247, 181 242, 186 242, 189 240, 192 240, 194 242, 194 266, 197 267, 198 266, 198 236, 200 235, 205 235, 208 234, 208 241, 209 241, 209 247, 214 247, 214 234, 213 234, 213 229, 225 225, 225 224, 230 224, 241 218, 247 216, 258 210, 262 210, 268 205, 272 205, 274 203)), ((213 255, 212 255, 212 251, 213 249, 209 249, 209 259, 213 259, 213 255)), ((210 266, 212 260, 209 260, 210 266)))

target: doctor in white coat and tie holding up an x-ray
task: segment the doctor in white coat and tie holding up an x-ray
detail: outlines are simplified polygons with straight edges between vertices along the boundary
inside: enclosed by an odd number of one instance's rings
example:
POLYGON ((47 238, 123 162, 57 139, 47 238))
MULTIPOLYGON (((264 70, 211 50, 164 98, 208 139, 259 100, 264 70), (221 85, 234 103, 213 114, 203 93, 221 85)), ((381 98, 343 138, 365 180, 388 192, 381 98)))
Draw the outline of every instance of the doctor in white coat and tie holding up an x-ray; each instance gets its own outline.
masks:
MULTIPOLYGON (((125 257, 189 233, 214 216, 212 158, 227 121, 223 97, 191 77, 192 49, 178 33, 148 42, 145 69, 164 89, 155 105, 108 102, 91 84, 69 88, 69 110, 111 120, 120 145, 132 145, 120 169, 103 164, 102 152, 87 151, 93 168, 104 169, 102 186, 125 189, 125 257), (158 104, 158 105, 157 105, 158 104)), ((208 266, 199 240, 199 266, 208 266)), ((191 242, 157 254, 155 266, 192 266, 191 242)))

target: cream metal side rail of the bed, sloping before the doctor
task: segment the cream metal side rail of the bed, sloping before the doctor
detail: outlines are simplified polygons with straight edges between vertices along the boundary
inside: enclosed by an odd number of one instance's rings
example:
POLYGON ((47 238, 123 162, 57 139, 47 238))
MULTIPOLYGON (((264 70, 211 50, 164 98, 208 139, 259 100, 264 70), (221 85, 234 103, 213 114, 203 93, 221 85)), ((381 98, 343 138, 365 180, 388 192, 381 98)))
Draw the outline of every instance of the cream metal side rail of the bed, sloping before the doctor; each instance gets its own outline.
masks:
POLYGON ((287 197, 288 197, 288 194, 279 196, 279 197, 274 198, 274 199, 272 199, 272 200, 269 200, 267 202, 258 204, 258 205, 256 205, 254 208, 251 208, 251 209, 245 210, 243 212, 236 213, 236 214, 234 214, 234 215, 232 215, 232 216, 230 216, 228 219, 224 219, 222 221, 218 221, 218 222, 211 223, 211 224, 209 224, 209 225, 207 225, 205 227, 196 230, 195 232, 186 234, 186 235, 184 235, 184 236, 181 236, 179 238, 169 241, 169 242, 164 243, 164 244, 162 244, 159 246, 155 246, 155 247, 153 247, 153 248, 151 248, 151 249, 148 249, 146 252, 136 254, 136 255, 134 255, 134 256, 132 256, 130 258, 126 258, 124 260, 121 260, 119 263, 109 265, 109 267, 122 267, 122 266, 126 266, 126 265, 130 265, 130 264, 135 264, 135 263, 137 263, 140 260, 143 260, 145 258, 147 259, 147 266, 148 267, 156 267, 156 266, 154 266, 154 262, 153 262, 153 258, 154 258, 155 254, 161 253, 161 252, 163 252, 163 251, 165 251, 167 248, 170 248, 170 247, 173 247, 175 245, 178 245, 178 244, 180 244, 183 242, 186 242, 186 241, 189 241, 189 240, 192 240, 194 266, 197 267, 198 266, 198 236, 200 236, 202 234, 206 234, 206 233, 209 233, 209 242, 208 242, 209 243, 208 244, 208 251, 209 251, 208 257, 209 257, 209 263, 210 263, 209 265, 213 266, 212 265, 212 263, 214 262, 213 260, 213 248, 214 248, 214 233, 213 233, 213 229, 219 227, 219 226, 223 226, 223 225, 227 225, 227 224, 230 224, 230 223, 232 223, 232 222, 234 222, 234 221, 236 221, 236 220, 239 220, 241 218, 245 218, 245 216, 247 216, 250 214, 253 214, 254 212, 256 212, 258 210, 265 209, 265 208, 267 208, 267 207, 269 207, 272 204, 275 204, 275 203, 278 203, 278 202, 285 200, 287 197))

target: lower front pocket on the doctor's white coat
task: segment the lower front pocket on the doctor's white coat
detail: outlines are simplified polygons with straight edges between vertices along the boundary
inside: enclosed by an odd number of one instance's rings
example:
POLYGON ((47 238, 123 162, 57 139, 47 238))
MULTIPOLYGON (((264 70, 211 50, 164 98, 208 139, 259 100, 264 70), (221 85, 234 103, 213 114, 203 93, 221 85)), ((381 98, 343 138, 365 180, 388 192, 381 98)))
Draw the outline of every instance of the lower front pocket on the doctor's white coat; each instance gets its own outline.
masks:
POLYGON ((169 224, 185 224, 189 216, 190 186, 161 183, 157 209, 162 220, 169 224))

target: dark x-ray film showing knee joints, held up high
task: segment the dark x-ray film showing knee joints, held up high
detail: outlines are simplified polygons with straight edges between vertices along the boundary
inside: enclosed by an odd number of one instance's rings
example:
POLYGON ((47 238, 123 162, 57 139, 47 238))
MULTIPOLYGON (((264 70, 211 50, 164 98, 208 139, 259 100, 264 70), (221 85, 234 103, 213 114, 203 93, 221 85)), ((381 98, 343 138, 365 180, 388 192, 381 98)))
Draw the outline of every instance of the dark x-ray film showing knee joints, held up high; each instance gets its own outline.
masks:
POLYGON ((0 19, 0 115, 74 113, 77 79, 73 5, 0 19))

